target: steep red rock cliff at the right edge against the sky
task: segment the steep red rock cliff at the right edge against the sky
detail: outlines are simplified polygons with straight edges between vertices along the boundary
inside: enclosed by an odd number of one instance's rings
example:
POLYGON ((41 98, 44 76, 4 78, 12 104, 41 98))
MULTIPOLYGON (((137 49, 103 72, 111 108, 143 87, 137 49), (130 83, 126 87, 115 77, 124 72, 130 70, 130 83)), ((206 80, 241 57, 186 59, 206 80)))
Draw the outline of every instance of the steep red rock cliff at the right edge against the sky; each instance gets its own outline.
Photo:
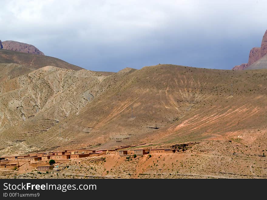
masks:
MULTIPOLYGON (((257 66, 255 64, 256 61, 261 59, 266 54, 267 54, 267 30, 266 30, 263 38, 262 38, 261 47, 254 47, 251 49, 251 51, 249 53, 248 63, 243 63, 241 65, 237 65, 233 68, 233 70, 246 69, 249 66, 251 66, 252 64, 254 64, 254 66, 252 67, 253 69, 267 69, 267 66, 266 65, 263 66, 262 62, 261 62, 261 65, 259 65, 259 66, 257 66)), ((252 68, 250 68, 250 69, 252 69, 252 68)))

